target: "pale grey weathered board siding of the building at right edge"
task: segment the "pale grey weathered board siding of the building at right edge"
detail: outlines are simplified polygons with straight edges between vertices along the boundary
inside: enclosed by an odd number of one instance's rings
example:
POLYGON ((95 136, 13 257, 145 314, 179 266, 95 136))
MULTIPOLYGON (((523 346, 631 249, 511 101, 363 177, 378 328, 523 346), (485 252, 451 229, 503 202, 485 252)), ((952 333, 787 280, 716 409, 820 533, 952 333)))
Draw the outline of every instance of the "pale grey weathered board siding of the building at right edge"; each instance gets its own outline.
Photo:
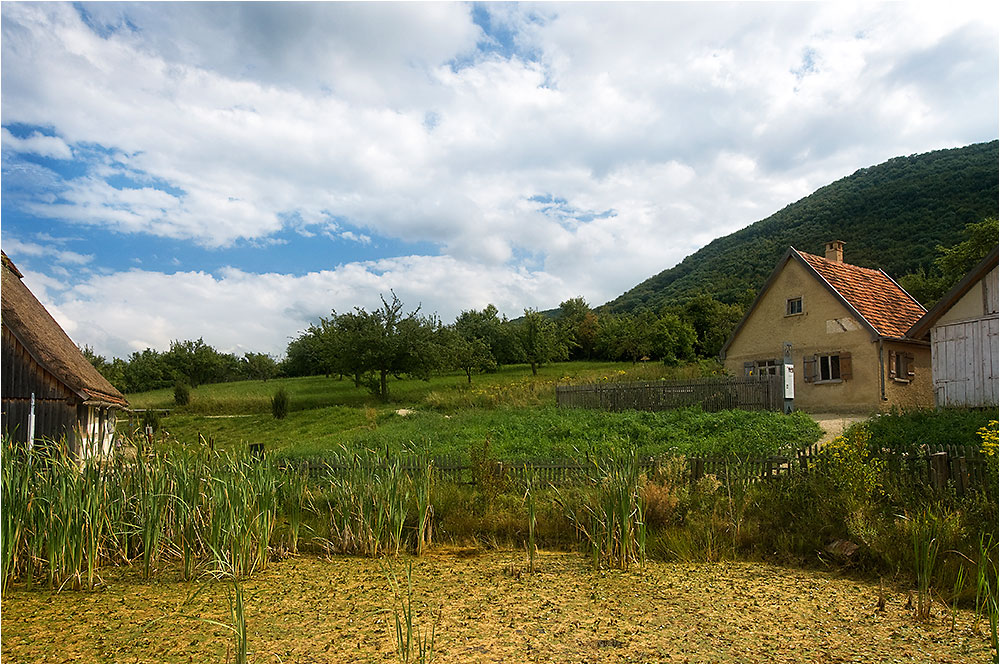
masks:
POLYGON ((934 392, 941 407, 997 406, 998 319, 960 321, 931 329, 934 392))

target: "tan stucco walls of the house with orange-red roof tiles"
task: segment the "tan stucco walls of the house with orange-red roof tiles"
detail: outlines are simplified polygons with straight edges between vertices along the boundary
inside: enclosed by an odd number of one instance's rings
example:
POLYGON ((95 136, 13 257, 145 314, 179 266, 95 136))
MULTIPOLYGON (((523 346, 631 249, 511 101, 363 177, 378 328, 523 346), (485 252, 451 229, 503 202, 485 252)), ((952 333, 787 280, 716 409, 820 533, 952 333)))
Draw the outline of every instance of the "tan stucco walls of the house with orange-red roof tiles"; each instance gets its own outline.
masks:
POLYGON ((891 393, 887 391, 889 401, 883 401, 880 375, 887 370, 879 363, 878 343, 864 324, 853 318, 840 300, 795 259, 785 263, 747 317, 727 349, 725 367, 741 376, 745 362, 768 358, 780 361, 784 342, 792 344, 798 409, 870 412, 891 404, 933 406, 929 350, 906 345, 906 350, 914 353, 917 376, 909 384, 894 384, 891 393), (788 316, 786 301, 796 297, 802 298, 802 313, 788 316), (804 380, 804 358, 844 352, 851 354, 851 378, 832 382, 804 380), (926 371, 921 371, 924 368, 926 371))

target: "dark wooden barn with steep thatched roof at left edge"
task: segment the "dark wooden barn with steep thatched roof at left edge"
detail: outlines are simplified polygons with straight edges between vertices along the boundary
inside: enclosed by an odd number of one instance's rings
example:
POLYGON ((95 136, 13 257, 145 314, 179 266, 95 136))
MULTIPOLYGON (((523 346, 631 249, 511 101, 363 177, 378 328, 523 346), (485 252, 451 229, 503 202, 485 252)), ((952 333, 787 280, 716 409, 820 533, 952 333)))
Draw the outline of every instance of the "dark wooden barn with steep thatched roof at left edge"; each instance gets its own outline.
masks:
POLYGON ((4 436, 65 439, 81 457, 109 451, 116 413, 128 402, 83 357, 6 254, 2 259, 4 436))

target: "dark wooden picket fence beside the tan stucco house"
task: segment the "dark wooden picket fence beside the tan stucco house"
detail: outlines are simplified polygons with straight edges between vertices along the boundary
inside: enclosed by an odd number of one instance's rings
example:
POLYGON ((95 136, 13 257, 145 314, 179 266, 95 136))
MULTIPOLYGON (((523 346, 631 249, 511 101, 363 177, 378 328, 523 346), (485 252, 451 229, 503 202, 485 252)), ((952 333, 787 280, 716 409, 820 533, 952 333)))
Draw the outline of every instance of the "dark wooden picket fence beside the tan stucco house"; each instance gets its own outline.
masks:
POLYGON ((765 374, 687 381, 556 386, 556 404, 607 411, 665 411, 697 405, 705 411, 781 411, 784 406, 784 382, 781 376, 765 374))

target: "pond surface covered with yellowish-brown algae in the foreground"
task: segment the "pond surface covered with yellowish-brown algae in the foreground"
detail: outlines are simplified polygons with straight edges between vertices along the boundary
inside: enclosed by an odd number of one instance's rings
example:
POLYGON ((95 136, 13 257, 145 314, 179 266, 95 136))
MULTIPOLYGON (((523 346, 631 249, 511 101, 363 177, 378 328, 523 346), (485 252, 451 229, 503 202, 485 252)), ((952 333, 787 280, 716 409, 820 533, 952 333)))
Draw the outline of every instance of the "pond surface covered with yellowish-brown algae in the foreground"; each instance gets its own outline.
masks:
MULTIPOLYGON (((968 611, 917 623, 903 591, 757 563, 590 569, 578 554, 442 548, 376 561, 301 556, 245 582, 250 659, 398 661, 386 571, 413 563, 415 623, 437 621, 437 662, 986 662, 968 611), (513 574, 512 574, 513 572, 513 574), (436 619, 435 619, 436 618, 436 619)), ((213 662, 231 658, 226 586, 144 583, 105 571, 98 591, 11 589, 4 662, 213 662)))

